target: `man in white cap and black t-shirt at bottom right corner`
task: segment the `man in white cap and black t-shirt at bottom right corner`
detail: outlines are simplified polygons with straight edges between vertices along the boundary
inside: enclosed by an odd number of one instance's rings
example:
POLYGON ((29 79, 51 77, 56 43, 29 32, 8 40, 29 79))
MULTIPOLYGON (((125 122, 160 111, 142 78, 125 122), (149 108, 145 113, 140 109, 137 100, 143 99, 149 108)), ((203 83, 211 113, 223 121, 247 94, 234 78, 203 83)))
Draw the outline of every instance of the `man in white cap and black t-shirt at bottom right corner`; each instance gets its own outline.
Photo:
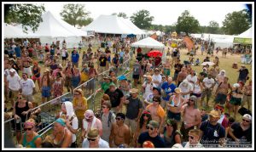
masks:
POLYGON ((228 133, 232 141, 235 141, 241 147, 252 147, 252 116, 243 115, 242 121, 234 122, 228 133))

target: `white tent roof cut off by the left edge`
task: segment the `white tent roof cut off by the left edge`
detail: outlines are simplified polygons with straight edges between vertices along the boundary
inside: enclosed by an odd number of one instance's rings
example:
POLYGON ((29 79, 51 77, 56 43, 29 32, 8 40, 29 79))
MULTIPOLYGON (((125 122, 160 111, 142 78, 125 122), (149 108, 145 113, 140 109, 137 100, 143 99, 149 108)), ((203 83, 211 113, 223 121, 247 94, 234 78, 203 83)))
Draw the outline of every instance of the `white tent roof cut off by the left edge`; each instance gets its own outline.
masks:
POLYGON ((29 31, 25 33, 18 27, 4 24, 4 38, 38 38, 38 35, 29 31))

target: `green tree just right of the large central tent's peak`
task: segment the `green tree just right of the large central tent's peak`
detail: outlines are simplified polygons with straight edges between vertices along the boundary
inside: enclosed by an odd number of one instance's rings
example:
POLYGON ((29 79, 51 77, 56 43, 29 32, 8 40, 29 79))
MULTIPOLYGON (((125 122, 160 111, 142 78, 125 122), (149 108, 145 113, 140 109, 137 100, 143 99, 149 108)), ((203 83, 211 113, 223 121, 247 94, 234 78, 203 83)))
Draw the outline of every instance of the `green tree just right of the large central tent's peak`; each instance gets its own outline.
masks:
POLYGON ((149 11, 144 9, 131 16, 131 22, 141 29, 149 29, 153 20, 154 16, 150 16, 149 11))

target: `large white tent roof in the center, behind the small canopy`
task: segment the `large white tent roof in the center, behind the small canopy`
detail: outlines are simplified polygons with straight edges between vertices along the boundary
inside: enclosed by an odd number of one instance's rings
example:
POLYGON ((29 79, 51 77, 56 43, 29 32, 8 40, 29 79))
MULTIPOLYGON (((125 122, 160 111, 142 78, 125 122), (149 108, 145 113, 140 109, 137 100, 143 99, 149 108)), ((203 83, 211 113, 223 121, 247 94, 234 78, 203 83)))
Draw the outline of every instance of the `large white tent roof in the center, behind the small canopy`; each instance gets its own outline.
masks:
POLYGON ((120 19, 117 15, 100 15, 96 20, 84 27, 84 31, 95 31, 106 34, 141 34, 136 25, 127 20, 120 19))

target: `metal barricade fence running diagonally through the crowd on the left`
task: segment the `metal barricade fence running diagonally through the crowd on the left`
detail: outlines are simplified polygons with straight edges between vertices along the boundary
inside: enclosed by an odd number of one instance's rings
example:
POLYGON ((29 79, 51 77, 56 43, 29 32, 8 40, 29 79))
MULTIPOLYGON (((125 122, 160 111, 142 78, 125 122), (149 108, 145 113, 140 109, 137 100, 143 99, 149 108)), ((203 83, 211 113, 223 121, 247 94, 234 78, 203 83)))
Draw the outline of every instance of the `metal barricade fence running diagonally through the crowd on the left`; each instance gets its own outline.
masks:
MULTIPOLYGON (((117 75, 116 77, 120 75, 128 75, 129 70, 127 70, 126 67, 129 67, 129 59, 126 60, 123 64, 120 64, 117 69, 117 75)), ((104 75, 108 75, 109 71, 113 70, 113 66, 109 67, 108 70, 103 71, 102 73, 98 74, 95 78, 91 78, 87 82, 84 82, 83 84, 79 85, 78 87, 74 89, 81 88, 84 93, 84 97, 87 99, 88 108, 90 110, 93 110, 96 112, 96 110, 101 108, 100 101, 102 99, 102 93, 98 92, 101 88, 102 84, 102 78, 104 75)), ((60 97, 57 97, 55 99, 51 99, 48 102, 44 104, 40 104, 37 107, 33 108, 30 111, 41 109, 41 112, 38 114, 39 122, 41 122, 41 126, 38 127, 38 134, 46 135, 47 132, 49 132, 52 128, 52 125, 55 121, 56 115, 61 112, 61 103, 66 101, 73 101, 73 94, 72 93, 65 93, 61 95, 60 97)), ((28 115, 26 115, 26 120, 29 119, 28 115)), ((9 125, 11 127, 12 131, 12 137, 15 138, 15 132, 17 132, 17 128, 15 125, 19 120, 15 120, 14 118, 9 119, 8 121, 4 121, 4 124, 9 125)), ((20 123, 20 131, 22 133, 23 131, 23 123, 20 123)), ((18 142, 16 142, 18 143, 18 142)))

